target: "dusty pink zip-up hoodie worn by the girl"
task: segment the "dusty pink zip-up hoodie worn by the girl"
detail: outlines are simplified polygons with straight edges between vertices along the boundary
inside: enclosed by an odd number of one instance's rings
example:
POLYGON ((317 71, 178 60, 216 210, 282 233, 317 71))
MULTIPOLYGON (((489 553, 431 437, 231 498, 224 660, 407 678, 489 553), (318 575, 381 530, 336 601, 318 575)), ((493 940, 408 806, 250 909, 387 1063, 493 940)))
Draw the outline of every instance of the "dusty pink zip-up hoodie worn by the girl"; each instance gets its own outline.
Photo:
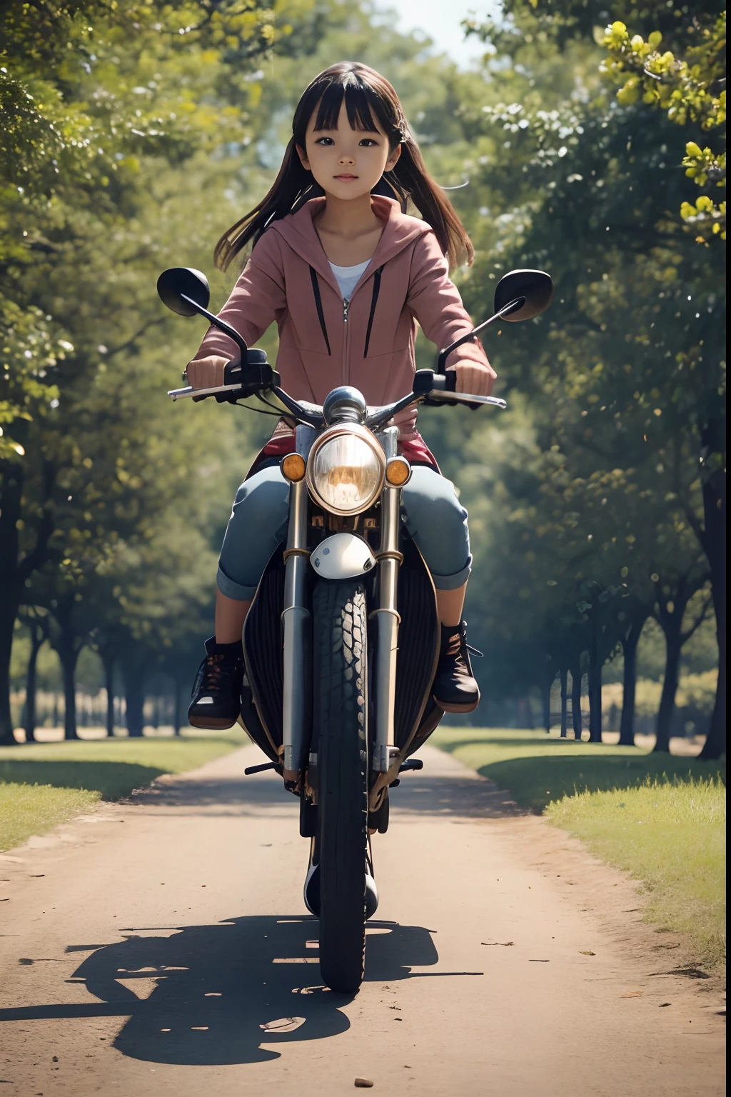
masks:
MULTIPOLYGON (((384 219, 384 231, 346 304, 312 223, 323 204, 323 197, 312 199, 273 222, 219 316, 250 347, 276 320, 276 369, 282 387, 295 399, 322 404, 336 385, 354 385, 369 405, 389 404, 411 392, 415 320, 439 349, 472 321, 432 228, 402 214, 391 199, 375 195, 374 212, 384 219)), ((238 361, 239 351, 210 327, 195 357, 208 354, 238 361)), ((460 361, 487 365, 479 341, 464 343, 447 364, 460 361)), ((414 436, 415 421, 415 408, 397 417, 403 440, 414 436)), ((281 425, 277 434, 281 429, 288 430, 281 425)))

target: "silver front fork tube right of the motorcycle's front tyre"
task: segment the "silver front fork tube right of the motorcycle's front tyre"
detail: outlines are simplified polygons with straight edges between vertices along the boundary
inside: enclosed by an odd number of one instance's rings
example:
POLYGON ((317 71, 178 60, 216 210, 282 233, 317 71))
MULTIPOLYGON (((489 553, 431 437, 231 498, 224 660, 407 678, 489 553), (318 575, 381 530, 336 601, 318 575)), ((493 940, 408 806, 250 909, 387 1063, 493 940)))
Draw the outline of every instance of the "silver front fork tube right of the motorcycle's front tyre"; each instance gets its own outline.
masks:
MULTIPOLYGON (((378 439, 384 446, 386 459, 397 454, 398 427, 387 427, 378 439)), ((399 552, 399 519, 401 512, 401 488, 385 485, 380 497, 380 548, 378 551, 378 609, 370 618, 376 618, 378 647, 376 655, 376 734, 374 736, 373 769, 386 773, 389 769, 390 750, 393 746, 393 712, 396 709, 396 656, 399 643, 401 618, 397 610, 399 565, 403 556, 399 552)))

